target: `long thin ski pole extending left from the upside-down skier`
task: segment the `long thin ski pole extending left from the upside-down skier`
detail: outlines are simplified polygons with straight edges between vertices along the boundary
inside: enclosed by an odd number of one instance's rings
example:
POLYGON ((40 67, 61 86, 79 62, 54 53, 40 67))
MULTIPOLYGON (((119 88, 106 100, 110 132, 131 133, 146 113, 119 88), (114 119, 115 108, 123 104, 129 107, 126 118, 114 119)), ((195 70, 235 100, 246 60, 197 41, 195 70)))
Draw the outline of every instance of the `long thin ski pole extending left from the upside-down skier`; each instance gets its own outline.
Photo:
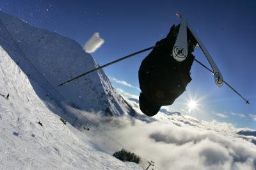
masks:
POLYGON ((93 70, 90 70, 90 71, 88 71, 88 72, 86 72, 86 73, 82 73, 81 75, 78 75, 77 77, 74 77, 74 78, 72 78, 72 79, 70 79, 70 80, 68 80, 68 81, 66 81, 66 82, 63 82, 63 83, 59 84, 58 86, 63 86, 63 85, 65 85, 65 84, 67 84, 68 82, 74 81, 74 80, 76 80, 76 79, 78 79, 78 78, 80 78, 80 77, 83 77, 84 75, 86 75, 86 74, 88 74, 88 73, 92 73, 92 72, 94 72, 94 71, 96 71, 96 70, 99 70, 100 68, 104 68, 104 67, 106 67, 106 66, 113 65, 114 63, 117 63, 117 62, 122 61, 122 60, 124 60, 124 59, 131 58, 132 56, 135 56, 135 55, 137 55, 137 54, 140 54, 141 52, 145 52, 145 51, 147 51, 147 50, 154 49, 155 47, 158 47, 158 45, 153 46, 153 47, 148 47, 147 49, 139 50, 138 52, 134 52, 134 53, 132 53, 132 54, 129 54, 128 56, 124 56, 123 58, 116 59, 115 61, 112 61, 112 62, 110 62, 110 63, 107 63, 106 65, 102 65, 102 66, 99 66, 99 67, 97 67, 97 68, 94 68, 93 70))

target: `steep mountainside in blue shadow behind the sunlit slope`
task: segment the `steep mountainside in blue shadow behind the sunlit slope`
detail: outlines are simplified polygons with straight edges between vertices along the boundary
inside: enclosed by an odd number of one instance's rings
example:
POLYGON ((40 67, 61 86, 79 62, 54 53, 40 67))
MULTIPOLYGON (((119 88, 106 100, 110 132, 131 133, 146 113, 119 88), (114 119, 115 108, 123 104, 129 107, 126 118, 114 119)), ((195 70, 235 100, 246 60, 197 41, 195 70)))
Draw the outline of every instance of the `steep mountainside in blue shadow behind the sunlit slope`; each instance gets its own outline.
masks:
MULTIPOLYGON (((28 75, 29 80, 37 82, 59 105, 64 100, 61 95, 70 105, 85 111, 102 111, 110 115, 134 112, 111 86, 102 70, 57 87, 61 82, 98 66, 77 42, 30 26, 3 12, 0 12, 0 19, 0 45, 28 75), (36 70, 51 85, 38 76, 36 70), (60 95, 56 95, 50 86, 56 88, 60 95)), ((35 92, 38 93, 37 90, 35 92)))

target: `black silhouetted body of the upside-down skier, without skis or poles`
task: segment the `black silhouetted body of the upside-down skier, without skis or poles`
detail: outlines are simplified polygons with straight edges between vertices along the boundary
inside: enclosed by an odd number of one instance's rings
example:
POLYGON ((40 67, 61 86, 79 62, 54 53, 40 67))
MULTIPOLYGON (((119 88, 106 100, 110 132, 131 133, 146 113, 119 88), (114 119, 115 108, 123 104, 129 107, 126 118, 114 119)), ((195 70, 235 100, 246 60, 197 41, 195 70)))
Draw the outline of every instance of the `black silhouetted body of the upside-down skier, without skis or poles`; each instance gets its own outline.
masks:
POLYGON ((191 81, 190 69, 195 59, 191 52, 195 49, 196 40, 187 30, 188 56, 184 61, 178 62, 172 56, 178 33, 179 26, 173 25, 166 38, 157 42, 157 47, 141 63, 140 109, 147 116, 157 114, 163 105, 173 104, 191 81))

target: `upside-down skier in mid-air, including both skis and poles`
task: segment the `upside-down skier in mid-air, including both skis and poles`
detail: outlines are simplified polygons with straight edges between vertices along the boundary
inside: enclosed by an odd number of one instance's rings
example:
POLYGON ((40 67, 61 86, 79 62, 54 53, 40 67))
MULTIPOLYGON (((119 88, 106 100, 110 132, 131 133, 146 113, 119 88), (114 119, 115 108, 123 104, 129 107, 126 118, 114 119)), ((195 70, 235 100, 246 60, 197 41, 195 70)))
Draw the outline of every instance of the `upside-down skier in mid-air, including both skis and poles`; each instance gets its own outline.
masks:
POLYGON ((249 100, 246 100, 236 89, 232 88, 230 84, 223 80, 221 72, 212 59, 211 54, 205 48, 204 43, 202 43, 195 31, 189 26, 186 18, 182 17, 179 13, 176 13, 176 15, 181 19, 180 24, 178 26, 173 25, 166 38, 157 42, 155 46, 139 50, 105 65, 93 68, 58 86, 63 86, 96 70, 153 49, 143 59, 139 70, 141 89, 140 109, 147 116, 157 114, 163 105, 172 105, 175 99, 184 93, 186 86, 192 80, 190 70, 194 60, 214 75, 216 86, 221 87, 225 83, 228 88, 243 98, 246 104, 250 104, 249 100), (204 52, 205 58, 209 61, 212 69, 195 59, 192 52, 196 46, 200 47, 202 52, 204 52))

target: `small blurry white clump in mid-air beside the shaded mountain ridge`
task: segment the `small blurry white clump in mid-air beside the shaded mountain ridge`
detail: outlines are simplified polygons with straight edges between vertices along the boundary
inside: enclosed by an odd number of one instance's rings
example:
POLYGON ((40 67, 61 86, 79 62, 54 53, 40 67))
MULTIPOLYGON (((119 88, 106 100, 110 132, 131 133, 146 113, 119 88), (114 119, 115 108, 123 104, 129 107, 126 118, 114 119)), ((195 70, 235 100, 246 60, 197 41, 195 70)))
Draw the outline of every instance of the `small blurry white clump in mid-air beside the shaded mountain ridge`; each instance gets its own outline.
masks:
POLYGON ((94 33, 90 40, 84 44, 85 52, 95 52, 104 43, 104 40, 100 38, 99 33, 94 33))

